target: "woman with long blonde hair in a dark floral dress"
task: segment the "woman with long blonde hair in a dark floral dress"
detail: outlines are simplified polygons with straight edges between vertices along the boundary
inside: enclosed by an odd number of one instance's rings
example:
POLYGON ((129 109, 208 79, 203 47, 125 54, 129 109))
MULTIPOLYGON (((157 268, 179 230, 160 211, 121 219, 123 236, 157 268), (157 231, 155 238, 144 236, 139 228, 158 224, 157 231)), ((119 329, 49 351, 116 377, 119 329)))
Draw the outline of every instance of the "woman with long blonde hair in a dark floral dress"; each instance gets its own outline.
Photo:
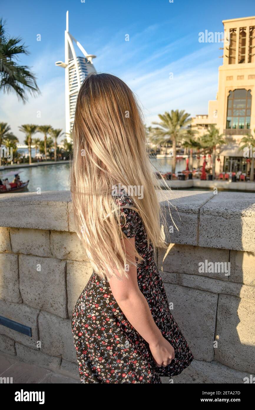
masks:
POLYGON ((122 80, 86 78, 73 143, 74 221, 93 267, 72 312, 81 383, 161 383, 193 355, 154 261, 154 248, 166 248, 159 187, 140 109, 122 80))

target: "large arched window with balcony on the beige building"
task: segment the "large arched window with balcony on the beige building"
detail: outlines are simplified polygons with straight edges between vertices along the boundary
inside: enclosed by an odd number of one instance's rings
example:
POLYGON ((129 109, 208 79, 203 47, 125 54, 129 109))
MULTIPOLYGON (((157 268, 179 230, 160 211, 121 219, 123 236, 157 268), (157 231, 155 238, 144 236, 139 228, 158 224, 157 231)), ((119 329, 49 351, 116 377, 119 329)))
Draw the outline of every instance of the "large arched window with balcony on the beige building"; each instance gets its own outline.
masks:
POLYGON ((226 128, 234 130, 250 128, 250 90, 229 91, 226 128))

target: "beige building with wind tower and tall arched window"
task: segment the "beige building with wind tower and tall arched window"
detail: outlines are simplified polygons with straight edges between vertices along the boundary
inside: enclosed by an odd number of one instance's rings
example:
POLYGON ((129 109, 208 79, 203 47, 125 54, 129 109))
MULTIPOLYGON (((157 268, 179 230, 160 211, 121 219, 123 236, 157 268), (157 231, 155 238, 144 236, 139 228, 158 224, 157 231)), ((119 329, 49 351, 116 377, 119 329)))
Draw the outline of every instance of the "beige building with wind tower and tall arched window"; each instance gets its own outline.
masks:
POLYGON ((203 135, 215 124, 226 145, 218 149, 220 171, 249 174, 239 142, 255 129, 255 16, 224 20, 223 64, 219 67, 216 100, 209 101, 208 114, 192 118, 192 127, 203 135))

